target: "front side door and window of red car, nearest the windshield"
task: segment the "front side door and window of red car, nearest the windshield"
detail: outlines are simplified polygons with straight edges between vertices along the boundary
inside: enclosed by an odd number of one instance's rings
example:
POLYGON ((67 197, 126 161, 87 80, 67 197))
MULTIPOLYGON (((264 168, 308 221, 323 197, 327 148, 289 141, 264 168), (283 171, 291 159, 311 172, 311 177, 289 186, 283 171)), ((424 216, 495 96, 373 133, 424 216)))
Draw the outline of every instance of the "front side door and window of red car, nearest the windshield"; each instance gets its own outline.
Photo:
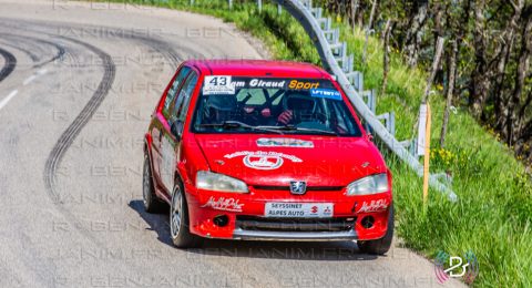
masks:
POLYGON ((164 135, 161 140, 161 175, 168 196, 172 195, 174 187, 176 163, 181 161, 177 158, 181 155, 181 136, 197 80, 198 73, 192 70, 183 83, 175 103, 171 107, 168 127, 164 130, 164 135))

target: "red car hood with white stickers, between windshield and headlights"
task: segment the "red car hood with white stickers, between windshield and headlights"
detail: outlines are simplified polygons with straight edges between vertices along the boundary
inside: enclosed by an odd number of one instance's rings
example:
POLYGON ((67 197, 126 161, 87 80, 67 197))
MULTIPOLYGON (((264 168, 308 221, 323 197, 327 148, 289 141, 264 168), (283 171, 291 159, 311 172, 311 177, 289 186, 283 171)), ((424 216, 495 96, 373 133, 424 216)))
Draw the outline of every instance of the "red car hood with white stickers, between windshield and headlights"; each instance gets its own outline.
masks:
POLYGON ((346 186, 387 171, 377 147, 364 137, 309 135, 196 134, 213 172, 248 185, 346 186))

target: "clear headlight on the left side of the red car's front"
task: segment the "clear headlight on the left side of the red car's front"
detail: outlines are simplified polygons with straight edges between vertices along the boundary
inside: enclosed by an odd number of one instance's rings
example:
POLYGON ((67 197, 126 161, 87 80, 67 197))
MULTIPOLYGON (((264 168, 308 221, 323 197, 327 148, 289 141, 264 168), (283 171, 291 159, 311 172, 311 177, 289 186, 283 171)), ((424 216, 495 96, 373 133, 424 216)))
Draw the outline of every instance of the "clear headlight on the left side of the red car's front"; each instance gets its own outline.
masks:
POLYGON ((233 177, 208 171, 198 171, 196 188, 217 192, 247 193, 247 185, 233 177))

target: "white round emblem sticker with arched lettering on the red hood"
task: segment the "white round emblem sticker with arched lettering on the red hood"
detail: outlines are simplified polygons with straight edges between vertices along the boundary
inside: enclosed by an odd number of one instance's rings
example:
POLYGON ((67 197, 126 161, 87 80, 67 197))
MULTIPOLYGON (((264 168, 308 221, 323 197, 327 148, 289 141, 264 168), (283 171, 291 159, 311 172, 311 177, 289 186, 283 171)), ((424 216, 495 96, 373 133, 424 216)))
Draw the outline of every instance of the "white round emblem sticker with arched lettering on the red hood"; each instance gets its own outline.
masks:
POLYGON ((265 151, 238 151, 232 154, 226 154, 224 157, 234 158, 244 156, 243 163, 249 168, 254 169, 276 169, 283 166, 284 160, 300 163, 300 158, 294 155, 287 155, 279 152, 265 151))

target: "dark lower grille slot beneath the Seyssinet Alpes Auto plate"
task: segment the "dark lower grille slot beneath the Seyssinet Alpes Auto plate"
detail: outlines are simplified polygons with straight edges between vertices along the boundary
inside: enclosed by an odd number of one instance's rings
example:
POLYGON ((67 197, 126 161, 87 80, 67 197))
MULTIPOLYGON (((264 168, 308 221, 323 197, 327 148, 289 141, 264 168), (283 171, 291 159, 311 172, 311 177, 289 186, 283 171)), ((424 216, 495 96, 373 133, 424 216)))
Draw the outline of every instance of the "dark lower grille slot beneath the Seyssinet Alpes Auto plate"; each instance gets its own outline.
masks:
POLYGON ((236 226, 244 230, 263 232, 346 232, 355 227, 356 218, 285 219, 236 216, 236 226))

